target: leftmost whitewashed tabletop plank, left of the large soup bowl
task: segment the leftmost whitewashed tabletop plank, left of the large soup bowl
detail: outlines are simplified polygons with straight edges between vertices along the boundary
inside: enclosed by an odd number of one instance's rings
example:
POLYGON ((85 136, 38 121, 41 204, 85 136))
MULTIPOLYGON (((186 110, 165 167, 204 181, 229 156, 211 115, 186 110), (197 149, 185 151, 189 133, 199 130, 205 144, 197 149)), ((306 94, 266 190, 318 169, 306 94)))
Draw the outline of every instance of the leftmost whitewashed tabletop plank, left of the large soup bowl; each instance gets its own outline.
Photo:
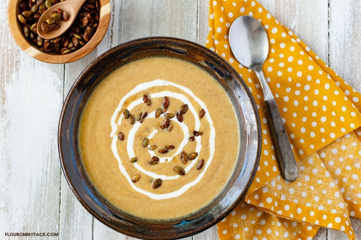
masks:
MULTIPOLYGON (((6 7, 3 1, 2 16, 6 7)), ((64 69, 22 51, 6 21, 0 32, 1 236, 5 238, 5 232, 57 233, 60 164, 56 135, 64 69)))

